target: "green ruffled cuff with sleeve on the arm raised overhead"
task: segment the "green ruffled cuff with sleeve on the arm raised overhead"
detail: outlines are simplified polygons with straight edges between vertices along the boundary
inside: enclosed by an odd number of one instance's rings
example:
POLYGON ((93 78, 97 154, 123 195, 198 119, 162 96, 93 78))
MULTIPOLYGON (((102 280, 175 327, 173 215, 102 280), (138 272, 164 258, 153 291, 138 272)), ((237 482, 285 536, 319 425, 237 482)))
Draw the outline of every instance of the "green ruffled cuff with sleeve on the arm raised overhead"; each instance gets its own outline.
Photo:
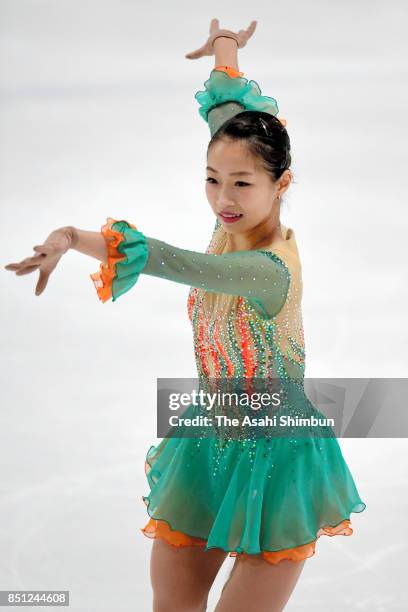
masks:
POLYGON ((225 121, 243 110, 277 116, 279 108, 275 98, 263 96, 258 83, 248 81, 243 74, 229 66, 217 66, 205 81, 205 90, 195 94, 200 104, 199 113, 207 121, 211 136, 225 121))

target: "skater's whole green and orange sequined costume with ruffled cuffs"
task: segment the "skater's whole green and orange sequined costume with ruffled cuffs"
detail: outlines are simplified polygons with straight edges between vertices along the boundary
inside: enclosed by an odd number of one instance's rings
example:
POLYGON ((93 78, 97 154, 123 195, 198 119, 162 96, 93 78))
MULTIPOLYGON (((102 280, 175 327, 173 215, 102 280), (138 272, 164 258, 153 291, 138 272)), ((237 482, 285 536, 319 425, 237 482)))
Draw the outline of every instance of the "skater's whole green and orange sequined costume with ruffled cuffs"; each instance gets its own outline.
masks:
MULTIPOLYGON (((242 110, 278 113, 255 81, 227 66, 211 71, 196 99, 211 134, 242 110)), ((282 226, 283 246, 226 252, 217 220, 205 253, 111 217, 101 231, 108 262, 91 278, 103 302, 128 291, 140 274, 190 286, 187 314, 201 381, 296 380, 296 401, 284 410, 296 403, 297 414, 322 416, 302 386, 302 270, 292 228, 282 226)), ((322 437, 163 438, 146 456, 149 521, 142 532, 174 546, 262 555, 272 564, 312 556, 321 535, 351 535, 351 513, 366 505, 329 429, 322 427, 322 437)))

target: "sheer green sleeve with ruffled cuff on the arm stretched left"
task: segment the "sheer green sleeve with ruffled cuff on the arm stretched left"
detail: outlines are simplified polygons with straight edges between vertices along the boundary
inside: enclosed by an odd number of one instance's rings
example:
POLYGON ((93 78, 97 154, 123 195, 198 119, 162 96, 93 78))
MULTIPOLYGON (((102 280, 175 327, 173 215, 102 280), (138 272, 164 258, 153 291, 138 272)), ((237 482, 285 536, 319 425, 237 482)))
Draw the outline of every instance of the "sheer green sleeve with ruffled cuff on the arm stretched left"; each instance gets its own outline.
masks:
POLYGON ((101 264, 91 278, 104 302, 129 291, 140 274, 245 297, 264 318, 275 316, 286 301, 290 271, 273 251, 189 251, 145 236, 135 225, 111 217, 101 231, 107 241, 108 263, 101 264))

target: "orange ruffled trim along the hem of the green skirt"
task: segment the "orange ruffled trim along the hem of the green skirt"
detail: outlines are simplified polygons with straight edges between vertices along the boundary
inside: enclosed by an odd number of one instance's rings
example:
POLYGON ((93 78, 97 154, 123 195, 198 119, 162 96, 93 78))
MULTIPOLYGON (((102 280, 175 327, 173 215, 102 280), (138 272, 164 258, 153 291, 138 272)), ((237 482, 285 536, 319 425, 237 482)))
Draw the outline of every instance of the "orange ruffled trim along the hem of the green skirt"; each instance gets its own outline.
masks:
MULTIPOLYGON (((327 525, 326 527, 321 527, 317 532, 316 539, 312 542, 308 542, 307 544, 302 544, 301 546, 295 546, 293 548, 285 548, 282 550, 276 551, 262 551, 262 558, 268 563, 272 563, 276 565, 279 561, 283 559, 288 559, 290 561, 303 561, 308 557, 312 557, 315 554, 315 548, 317 540, 322 535, 334 536, 334 535, 345 535, 350 536, 353 533, 353 529, 350 527, 350 519, 345 519, 335 527, 331 527, 327 525)), ((166 540, 169 544, 173 546, 205 546, 207 544, 207 540, 203 540, 201 538, 196 538, 193 536, 188 536, 182 531, 175 531, 171 529, 166 521, 157 520, 154 518, 150 518, 149 522, 145 525, 145 527, 141 528, 140 531, 147 536, 148 538, 162 538, 166 540)), ((222 549, 221 549, 222 550, 222 549)), ((236 551, 225 551, 229 552, 230 557, 240 556, 242 559, 254 558, 259 555, 251 555, 244 552, 236 552, 236 551)))

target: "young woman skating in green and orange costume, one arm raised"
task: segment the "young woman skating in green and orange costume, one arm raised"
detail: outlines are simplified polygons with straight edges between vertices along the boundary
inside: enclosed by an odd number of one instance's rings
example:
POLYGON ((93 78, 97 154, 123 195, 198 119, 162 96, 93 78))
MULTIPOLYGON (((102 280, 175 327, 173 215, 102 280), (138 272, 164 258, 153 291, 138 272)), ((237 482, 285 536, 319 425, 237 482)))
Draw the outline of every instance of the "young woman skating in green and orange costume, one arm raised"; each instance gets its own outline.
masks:
MULTIPOLYGON (((205 253, 148 237, 108 217, 100 232, 62 227, 36 254, 6 266, 39 270, 40 295, 68 249, 101 262, 91 274, 99 298, 116 300, 140 274, 190 286, 187 311, 200 381, 278 379, 288 391, 282 413, 322 416, 303 390, 302 275, 295 233, 280 223, 289 188, 290 140, 276 100, 239 71, 237 49, 255 30, 210 25, 189 59, 215 54, 197 92, 208 121, 206 194, 216 217, 205 253), (289 388, 288 382, 295 381, 289 388)), ((286 605, 320 535, 351 535, 361 512, 352 475, 331 428, 321 436, 256 439, 167 437, 146 457, 154 539, 154 610, 201 611, 226 556, 235 557, 216 612, 277 611, 286 605)), ((290 429, 293 432, 293 429, 290 429)), ((311 429, 306 428, 310 433, 311 429)))

